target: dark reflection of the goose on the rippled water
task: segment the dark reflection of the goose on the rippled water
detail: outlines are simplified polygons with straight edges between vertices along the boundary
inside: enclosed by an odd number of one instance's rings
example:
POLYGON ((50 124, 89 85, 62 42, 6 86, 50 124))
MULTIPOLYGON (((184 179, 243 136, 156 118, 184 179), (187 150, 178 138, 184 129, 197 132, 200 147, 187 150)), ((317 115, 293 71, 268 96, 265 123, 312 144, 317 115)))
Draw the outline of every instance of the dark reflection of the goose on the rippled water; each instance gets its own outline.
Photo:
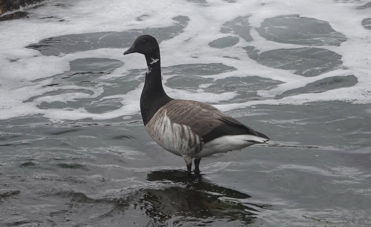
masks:
POLYGON ((147 180, 161 186, 144 189, 139 202, 141 210, 153 220, 152 224, 173 220, 174 224, 190 221, 198 222, 197 226, 200 226, 217 220, 251 224, 257 220, 259 210, 271 207, 246 203, 242 200, 251 198, 250 195, 221 187, 203 175, 182 170, 151 172, 147 180))

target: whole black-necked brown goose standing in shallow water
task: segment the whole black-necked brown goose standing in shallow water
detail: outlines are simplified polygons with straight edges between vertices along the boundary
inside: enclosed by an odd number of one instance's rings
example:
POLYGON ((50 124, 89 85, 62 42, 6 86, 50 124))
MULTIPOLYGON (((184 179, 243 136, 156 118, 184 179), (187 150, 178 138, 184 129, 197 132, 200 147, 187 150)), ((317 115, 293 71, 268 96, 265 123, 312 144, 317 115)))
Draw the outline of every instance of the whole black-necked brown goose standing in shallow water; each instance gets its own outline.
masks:
POLYGON ((141 53, 147 61, 140 109, 148 134, 165 150, 183 157, 189 172, 193 159, 199 171, 203 157, 269 141, 214 106, 170 98, 162 87, 160 47, 154 37, 137 37, 124 55, 129 53, 141 53))

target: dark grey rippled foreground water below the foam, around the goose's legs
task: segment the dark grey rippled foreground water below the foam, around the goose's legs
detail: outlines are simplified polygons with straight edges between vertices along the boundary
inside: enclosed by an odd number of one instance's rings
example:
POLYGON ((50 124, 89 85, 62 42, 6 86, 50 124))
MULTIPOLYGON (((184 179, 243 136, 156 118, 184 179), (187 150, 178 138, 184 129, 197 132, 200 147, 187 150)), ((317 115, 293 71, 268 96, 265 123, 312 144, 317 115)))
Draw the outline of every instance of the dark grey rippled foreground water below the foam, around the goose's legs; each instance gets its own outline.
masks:
POLYGON ((2 121, 1 223, 368 226, 370 106, 255 109, 230 114, 272 141, 202 159, 201 175, 191 176, 149 138, 139 116, 2 121))

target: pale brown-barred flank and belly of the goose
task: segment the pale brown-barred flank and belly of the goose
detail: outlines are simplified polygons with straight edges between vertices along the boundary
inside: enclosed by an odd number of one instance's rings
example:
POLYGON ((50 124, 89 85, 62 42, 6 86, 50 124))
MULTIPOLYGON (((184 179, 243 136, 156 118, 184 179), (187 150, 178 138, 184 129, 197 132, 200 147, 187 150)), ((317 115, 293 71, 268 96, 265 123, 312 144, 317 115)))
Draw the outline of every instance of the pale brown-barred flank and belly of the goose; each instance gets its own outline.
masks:
POLYGON ((201 150, 198 135, 186 125, 172 123, 166 112, 155 114, 145 128, 158 145, 175 155, 194 157, 201 150))

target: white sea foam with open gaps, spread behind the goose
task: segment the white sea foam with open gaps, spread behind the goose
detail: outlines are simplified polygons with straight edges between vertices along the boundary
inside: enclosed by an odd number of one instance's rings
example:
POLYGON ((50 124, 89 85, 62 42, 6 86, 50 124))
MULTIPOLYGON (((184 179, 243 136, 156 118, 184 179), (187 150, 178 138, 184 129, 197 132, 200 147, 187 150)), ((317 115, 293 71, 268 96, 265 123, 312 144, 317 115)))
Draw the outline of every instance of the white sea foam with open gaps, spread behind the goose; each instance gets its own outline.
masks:
MULTIPOLYGON (((184 64, 221 63, 234 67, 211 75, 198 75, 214 80, 228 77, 259 76, 282 81, 272 89, 257 91, 261 100, 242 103, 217 105, 227 111, 251 105, 269 104, 301 105, 316 101, 344 101, 351 103, 371 103, 370 76, 370 30, 362 26, 362 21, 369 17, 367 9, 359 10, 365 2, 343 2, 329 0, 308 1, 236 1, 228 3, 223 0, 208 0, 207 3, 190 1, 159 1, 148 6, 147 1, 52 1, 36 9, 28 9, 29 18, 9 20, 0 23, 0 119, 17 116, 42 114, 52 121, 62 119, 110 119, 139 113, 139 97, 143 82, 131 91, 122 94, 105 95, 104 86, 115 78, 128 75, 129 70, 139 70, 133 80, 140 80, 145 72, 145 61, 142 55, 124 56, 125 49, 100 48, 75 53, 60 53, 58 56, 43 55, 38 50, 25 48, 49 37, 68 34, 96 32, 124 32, 131 29, 147 29, 172 26, 174 17, 187 16, 188 24, 171 39, 160 43, 161 63, 163 67, 184 64), (58 5, 59 6, 56 6, 58 5), (311 77, 298 75, 293 70, 269 68, 261 65, 246 54, 242 47, 258 52, 275 49, 306 47, 290 43, 277 43, 266 40, 259 35, 259 28, 267 18, 299 14, 301 17, 323 20, 336 32, 343 34, 346 42, 340 46, 320 46, 342 56, 342 67, 330 72, 311 77), (347 15, 351 20, 345 20, 347 15), (50 17, 53 16, 53 17, 50 17), (240 20, 245 20, 239 22, 240 20), (228 23, 227 23, 228 22, 228 23), (250 26, 247 34, 236 33, 233 26, 250 26), (221 30, 221 29, 224 30, 221 30), (234 38, 232 44, 219 48, 220 39, 234 38), (219 41, 215 41, 219 40, 219 41), (237 42, 238 40, 238 42, 237 42), (213 43, 214 42, 214 43, 213 43), (219 43, 218 43, 219 42, 219 43), (209 45, 211 43, 211 45, 209 45), (236 43, 234 45, 234 43, 236 43), (217 48, 216 48, 217 47, 217 48), (53 76, 65 73, 70 69, 69 63, 76 59, 88 57, 116 59, 125 65, 99 77, 95 86, 66 84, 49 86, 53 76), (275 98, 284 92, 305 87, 307 84, 332 76, 354 75, 358 83, 350 88, 337 88, 321 93, 302 93, 299 95, 275 98), (58 94, 47 94, 51 91, 68 91, 58 94), (71 92, 73 90, 74 92, 71 92), (85 92, 84 92, 85 91, 85 92), (90 92, 87 92, 90 91, 90 92), (37 96, 37 97, 36 97, 37 96), (35 98, 36 97, 36 98, 35 98), (109 112, 91 113, 82 106, 79 108, 39 108, 43 102, 76 102, 82 99, 104 101, 121 99, 121 106, 109 112)), ((231 41, 231 40, 230 40, 231 41)), ((318 47, 318 46, 317 46, 318 47)), ((174 75, 164 75, 164 83, 174 75)), ((204 89, 212 83, 199 85, 196 92, 165 87, 173 98, 200 100, 209 103, 220 103, 236 97, 236 92, 210 93, 204 89)))

